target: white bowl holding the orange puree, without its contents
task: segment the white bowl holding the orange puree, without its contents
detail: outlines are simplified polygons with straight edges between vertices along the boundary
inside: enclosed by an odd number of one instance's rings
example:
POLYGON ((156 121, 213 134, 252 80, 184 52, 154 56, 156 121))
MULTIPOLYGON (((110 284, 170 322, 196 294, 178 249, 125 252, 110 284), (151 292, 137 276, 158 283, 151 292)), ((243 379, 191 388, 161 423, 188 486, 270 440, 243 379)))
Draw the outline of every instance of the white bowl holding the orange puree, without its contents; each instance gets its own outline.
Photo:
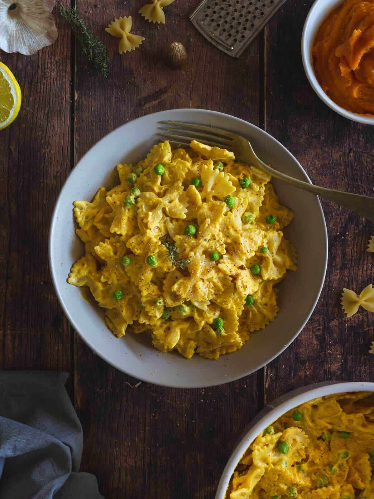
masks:
POLYGON ((301 55, 303 59, 303 65, 309 83, 312 85, 318 97, 322 99, 325 104, 327 104, 329 107, 331 107, 331 109, 344 116, 345 118, 348 118, 352 121, 358 121, 359 123, 366 123, 367 125, 374 125, 374 118, 361 114, 351 113, 343 107, 338 106, 338 104, 330 99, 330 97, 323 91, 314 73, 312 48, 314 39, 317 35, 317 31, 322 22, 330 14, 330 12, 332 10, 335 10, 336 7, 343 3, 343 1, 344 0, 316 0, 313 3, 312 8, 309 10, 307 18, 305 20, 303 34, 301 37, 301 55))

